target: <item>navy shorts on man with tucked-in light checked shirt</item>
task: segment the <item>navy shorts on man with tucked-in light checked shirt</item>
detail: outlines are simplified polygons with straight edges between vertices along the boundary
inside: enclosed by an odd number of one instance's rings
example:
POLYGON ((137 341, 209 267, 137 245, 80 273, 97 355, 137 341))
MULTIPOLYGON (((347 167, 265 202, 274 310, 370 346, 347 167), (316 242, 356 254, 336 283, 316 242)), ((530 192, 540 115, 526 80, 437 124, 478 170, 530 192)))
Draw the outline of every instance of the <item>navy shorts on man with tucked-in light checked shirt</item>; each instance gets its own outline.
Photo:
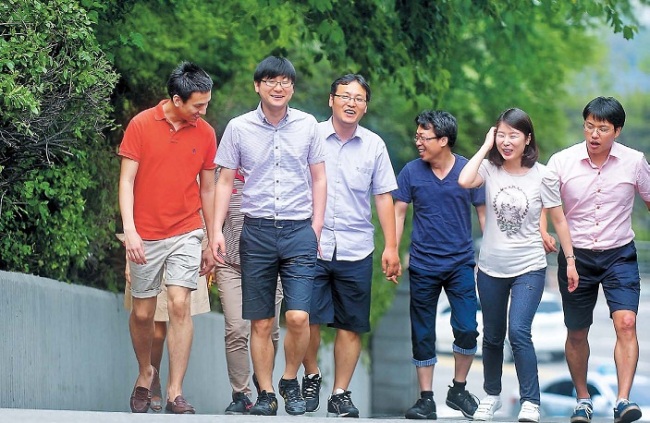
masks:
POLYGON ((245 217, 239 246, 244 319, 275 316, 278 275, 286 310, 309 312, 316 252, 311 220, 245 217))

